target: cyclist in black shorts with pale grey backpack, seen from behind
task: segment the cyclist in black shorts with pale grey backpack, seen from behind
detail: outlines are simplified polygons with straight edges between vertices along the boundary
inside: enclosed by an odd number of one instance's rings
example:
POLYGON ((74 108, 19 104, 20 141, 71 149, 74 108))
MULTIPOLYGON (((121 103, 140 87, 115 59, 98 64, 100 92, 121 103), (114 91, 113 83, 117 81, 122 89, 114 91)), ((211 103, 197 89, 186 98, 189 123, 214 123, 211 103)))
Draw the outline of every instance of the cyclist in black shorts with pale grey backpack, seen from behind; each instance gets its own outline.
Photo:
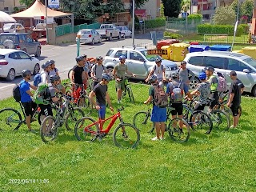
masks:
MULTIPOLYGON (((185 93, 187 97, 191 98, 190 91, 188 89, 188 86, 185 86, 185 83, 182 82, 179 79, 178 72, 174 72, 171 74, 172 82, 169 82, 167 84, 166 94, 170 97, 170 106, 174 108, 174 110, 171 110, 172 118, 183 118, 182 112, 183 112, 183 94, 185 93)), ((179 122, 179 127, 182 132, 182 121, 179 122)))

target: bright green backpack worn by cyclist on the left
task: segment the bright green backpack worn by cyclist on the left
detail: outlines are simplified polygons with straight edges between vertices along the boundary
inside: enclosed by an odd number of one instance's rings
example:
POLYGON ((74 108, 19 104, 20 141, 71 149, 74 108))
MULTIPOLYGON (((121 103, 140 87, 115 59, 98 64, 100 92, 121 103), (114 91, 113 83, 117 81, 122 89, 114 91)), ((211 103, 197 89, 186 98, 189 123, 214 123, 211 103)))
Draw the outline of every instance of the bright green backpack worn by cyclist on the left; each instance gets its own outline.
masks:
POLYGON ((48 90, 48 84, 46 83, 39 83, 38 84, 38 89, 35 90, 33 98, 34 98, 34 102, 36 104, 42 104, 42 105, 48 105, 50 104, 49 101, 46 101, 46 94, 47 94, 47 90, 48 90))

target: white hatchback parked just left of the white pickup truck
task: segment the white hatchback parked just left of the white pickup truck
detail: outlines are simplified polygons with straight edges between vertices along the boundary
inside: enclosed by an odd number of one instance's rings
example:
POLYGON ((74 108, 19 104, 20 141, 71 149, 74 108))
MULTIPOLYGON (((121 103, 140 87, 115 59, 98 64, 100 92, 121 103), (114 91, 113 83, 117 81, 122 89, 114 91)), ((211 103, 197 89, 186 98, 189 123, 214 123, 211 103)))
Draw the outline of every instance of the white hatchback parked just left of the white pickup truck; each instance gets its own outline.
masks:
MULTIPOLYGON (((102 42, 102 36, 98 34, 96 30, 79 30, 77 35, 81 35, 81 43, 90 43, 91 45, 94 45, 94 42, 102 42)), ((76 38, 76 41, 78 42, 78 37, 76 38)))

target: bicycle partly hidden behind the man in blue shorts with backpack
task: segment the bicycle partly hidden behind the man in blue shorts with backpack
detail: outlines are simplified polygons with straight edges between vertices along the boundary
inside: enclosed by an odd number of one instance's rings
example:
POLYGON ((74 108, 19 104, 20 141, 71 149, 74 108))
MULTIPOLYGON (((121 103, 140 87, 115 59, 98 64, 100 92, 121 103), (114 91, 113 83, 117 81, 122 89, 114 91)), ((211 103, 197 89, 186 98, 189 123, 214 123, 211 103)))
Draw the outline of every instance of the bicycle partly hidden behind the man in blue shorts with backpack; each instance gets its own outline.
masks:
MULTIPOLYGON (((170 138, 173 139, 175 142, 186 142, 190 138, 190 127, 184 118, 171 119, 171 110, 174 110, 174 108, 172 108, 171 106, 167 106, 166 131, 168 132, 170 138), (179 129, 180 126, 182 126, 182 131, 179 129)), ((139 111, 137 114, 134 114, 133 119, 134 126, 138 127, 140 131, 146 130, 147 126, 150 125, 150 134, 152 134, 154 131, 154 123, 150 121, 151 111, 152 106, 150 106, 147 111, 139 111)))

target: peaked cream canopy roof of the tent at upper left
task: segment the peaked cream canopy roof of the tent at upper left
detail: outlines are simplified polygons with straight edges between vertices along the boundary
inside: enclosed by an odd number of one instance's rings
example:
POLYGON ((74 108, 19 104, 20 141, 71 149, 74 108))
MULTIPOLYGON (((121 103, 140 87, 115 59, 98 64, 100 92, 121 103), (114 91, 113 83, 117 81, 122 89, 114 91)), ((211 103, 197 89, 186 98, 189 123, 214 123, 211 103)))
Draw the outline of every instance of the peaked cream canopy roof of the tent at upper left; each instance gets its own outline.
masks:
MULTIPOLYGON (((47 8, 47 17, 55 18, 55 17, 64 17, 71 14, 66 14, 61 11, 51 10, 47 8)), ((11 14, 10 16, 14 18, 34 18, 34 17, 46 17, 46 6, 42 4, 42 2, 36 0, 30 8, 23 10, 17 14, 11 14)))

